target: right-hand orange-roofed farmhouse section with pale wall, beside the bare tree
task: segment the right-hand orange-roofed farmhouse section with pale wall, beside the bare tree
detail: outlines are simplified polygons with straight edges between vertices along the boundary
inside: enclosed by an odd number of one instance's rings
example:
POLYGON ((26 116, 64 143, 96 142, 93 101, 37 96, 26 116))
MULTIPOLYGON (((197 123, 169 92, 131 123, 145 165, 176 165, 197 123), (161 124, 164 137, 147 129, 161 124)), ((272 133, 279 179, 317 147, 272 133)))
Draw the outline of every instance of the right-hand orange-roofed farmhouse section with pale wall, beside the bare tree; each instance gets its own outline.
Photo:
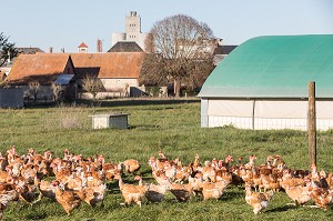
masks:
MULTIPOLYGON (((139 87, 143 52, 73 53, 78 92, 82 92, 82 80, 87 74, 98 77, 104 87, 102 97, 121 97, 130 88, 139 87)), ((87 96, 87 94, 85 94, 87 96)))

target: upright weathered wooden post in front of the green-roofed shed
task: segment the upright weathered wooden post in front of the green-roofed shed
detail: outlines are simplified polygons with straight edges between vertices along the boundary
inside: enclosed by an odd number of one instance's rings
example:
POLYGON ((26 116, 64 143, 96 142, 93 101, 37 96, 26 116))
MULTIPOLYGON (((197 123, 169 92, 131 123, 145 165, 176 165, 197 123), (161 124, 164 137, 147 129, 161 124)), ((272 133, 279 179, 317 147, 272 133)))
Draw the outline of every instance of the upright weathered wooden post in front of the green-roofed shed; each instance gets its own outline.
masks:
POLYGON ((316 164, 316 125, 315 125, 315 82, 309 82, 309 117, 307 117, 307 133, 309 133, 309 155, 310 164, 316 164))

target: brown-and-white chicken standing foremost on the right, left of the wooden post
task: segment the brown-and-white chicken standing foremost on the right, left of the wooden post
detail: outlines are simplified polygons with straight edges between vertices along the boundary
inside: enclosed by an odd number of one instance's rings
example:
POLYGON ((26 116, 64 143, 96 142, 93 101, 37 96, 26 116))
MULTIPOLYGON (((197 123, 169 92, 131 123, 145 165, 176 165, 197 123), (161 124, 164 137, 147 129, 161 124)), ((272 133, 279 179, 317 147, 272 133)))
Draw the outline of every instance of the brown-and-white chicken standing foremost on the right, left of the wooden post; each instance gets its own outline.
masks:
POLYGON ((245 184, 245 201, 253 208, 254 214, 258 214, 268 208, 274 194, 272 190, 269 192, 252 192, 251 185, 249 184, 245 184))

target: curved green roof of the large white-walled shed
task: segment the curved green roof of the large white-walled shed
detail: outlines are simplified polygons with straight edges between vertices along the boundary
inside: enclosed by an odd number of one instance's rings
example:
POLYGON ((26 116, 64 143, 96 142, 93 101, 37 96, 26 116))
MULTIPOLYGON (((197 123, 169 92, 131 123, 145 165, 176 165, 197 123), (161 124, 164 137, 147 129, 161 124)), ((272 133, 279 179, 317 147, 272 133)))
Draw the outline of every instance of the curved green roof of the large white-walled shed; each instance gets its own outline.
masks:
POLYGON ((202 98, 333 98, 333 34, 250 39, 212 71, 202 98))

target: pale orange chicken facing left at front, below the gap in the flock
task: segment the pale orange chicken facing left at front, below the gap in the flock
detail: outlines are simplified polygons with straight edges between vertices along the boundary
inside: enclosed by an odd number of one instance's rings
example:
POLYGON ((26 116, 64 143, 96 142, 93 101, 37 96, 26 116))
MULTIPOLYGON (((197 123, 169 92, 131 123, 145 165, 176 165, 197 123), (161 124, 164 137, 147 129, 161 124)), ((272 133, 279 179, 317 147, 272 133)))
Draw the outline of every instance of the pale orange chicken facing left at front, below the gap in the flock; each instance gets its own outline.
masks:
POLYGON ((125 202, 122 204, 130 205, 132 202, 135 202, 141 208, 141 202, 144 199, 147 188, 124 183, 121 175, 115 175, 114 179, 119 180, 119 190, 125 200, 125 202))

